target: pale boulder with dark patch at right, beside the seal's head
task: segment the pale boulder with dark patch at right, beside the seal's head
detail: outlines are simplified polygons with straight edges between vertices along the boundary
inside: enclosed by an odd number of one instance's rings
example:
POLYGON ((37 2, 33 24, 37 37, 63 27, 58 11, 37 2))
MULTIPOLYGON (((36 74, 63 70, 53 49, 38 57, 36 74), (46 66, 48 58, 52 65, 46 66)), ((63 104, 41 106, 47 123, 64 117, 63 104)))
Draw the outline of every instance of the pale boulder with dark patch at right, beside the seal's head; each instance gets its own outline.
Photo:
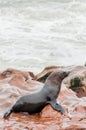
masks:
POLYGON ((64 80, 66 86, 76 92, 78 97, 86 97, 86 67, 75 67, 64 80))

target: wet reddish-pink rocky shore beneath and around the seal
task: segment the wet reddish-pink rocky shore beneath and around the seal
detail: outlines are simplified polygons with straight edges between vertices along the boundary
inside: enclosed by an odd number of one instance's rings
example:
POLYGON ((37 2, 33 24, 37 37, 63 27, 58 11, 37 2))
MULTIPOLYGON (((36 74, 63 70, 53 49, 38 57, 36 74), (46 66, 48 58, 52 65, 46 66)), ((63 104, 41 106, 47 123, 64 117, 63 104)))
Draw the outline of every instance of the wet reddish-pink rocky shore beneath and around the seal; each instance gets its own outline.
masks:
POLYGON ((41 82, 45 82, 47 76, 59 68, 68 69, 68 67, 51 66, 37 75, 15 69, 7 69, 0 73, 0 130, 86 130, 86 67, 84 66, 73 66, 69 76, 62 82, 57 101, 64 107, 64 115, 48 105, 39 114, 12 113, 9 118, 3 119, 4 112, 20 96, 40 91, 43 87, 41 82))

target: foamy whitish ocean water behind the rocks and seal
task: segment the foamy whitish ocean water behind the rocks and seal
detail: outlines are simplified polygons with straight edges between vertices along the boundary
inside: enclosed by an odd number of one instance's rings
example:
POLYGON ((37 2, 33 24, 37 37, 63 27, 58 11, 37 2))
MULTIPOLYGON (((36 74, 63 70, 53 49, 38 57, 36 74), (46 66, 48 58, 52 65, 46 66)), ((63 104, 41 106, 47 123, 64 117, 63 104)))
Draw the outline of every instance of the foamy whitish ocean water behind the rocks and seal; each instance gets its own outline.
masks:
POLYGON ((0 0, 0 71, 86 62, 86 0, 0 0))

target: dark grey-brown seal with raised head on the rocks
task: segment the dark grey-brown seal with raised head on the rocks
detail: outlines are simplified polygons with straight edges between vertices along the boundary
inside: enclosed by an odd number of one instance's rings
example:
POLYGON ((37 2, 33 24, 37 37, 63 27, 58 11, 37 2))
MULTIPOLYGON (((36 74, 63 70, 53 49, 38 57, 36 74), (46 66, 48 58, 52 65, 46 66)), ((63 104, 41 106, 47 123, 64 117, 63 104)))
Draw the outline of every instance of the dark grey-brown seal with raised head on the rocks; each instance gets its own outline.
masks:
POLYGON ((69 72, 64 70, 51 73, 41 91, 19 98, 13 107, 4 114, 3 118, 8 117, 12 112, 39 113, 48 104, 53 109, 64 113, 64 109, 56 102, 56 99, 60 92, 61 82, 68 74, 69 72))

